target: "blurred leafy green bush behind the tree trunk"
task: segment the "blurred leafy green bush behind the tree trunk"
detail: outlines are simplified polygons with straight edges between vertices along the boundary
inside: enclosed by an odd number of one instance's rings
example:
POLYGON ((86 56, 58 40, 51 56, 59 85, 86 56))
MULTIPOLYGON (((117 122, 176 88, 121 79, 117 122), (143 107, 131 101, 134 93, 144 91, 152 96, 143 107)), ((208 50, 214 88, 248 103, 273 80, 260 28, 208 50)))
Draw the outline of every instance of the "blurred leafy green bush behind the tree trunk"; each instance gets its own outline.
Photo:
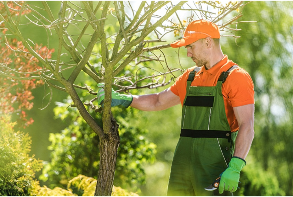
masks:
MULTIPOLYGON (((43 168, 42 180, 49 181, 50 187, 65 187, 68 181, 78 174, 97 178, 99 169, 99 137, 82 119, 76 108, 69 107, 71 100, 57 103, 54 109, 56 118, 67 121, 68 127, 61 133, 50 134, 52 144, 51 162, 43 168)), ((89 109, 99 125, 101 115, 89 109)), ((135 109, 116 108, 114 116, 119 124, 120 147, 116 162, 114 184, 137 190, 145 181, 143 164, 155 161, 155 144, 150 143, 144 135, 148 132, 133 123, 131 119, 138 116, 135 109)))

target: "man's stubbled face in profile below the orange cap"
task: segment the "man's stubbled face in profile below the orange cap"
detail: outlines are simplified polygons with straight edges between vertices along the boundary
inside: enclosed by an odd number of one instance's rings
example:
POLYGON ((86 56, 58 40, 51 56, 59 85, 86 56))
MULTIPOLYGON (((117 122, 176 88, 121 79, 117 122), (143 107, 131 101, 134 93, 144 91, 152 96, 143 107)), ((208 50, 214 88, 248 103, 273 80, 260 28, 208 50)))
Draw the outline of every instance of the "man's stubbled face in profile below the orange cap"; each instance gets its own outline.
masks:
POLYGON ((202 67, 206 65, 206 49, 204 47, 204 39, 197 40, 190 45, 186 45, 187 56, 191 57, 191 59, 196 63, 196 66, 202 67))

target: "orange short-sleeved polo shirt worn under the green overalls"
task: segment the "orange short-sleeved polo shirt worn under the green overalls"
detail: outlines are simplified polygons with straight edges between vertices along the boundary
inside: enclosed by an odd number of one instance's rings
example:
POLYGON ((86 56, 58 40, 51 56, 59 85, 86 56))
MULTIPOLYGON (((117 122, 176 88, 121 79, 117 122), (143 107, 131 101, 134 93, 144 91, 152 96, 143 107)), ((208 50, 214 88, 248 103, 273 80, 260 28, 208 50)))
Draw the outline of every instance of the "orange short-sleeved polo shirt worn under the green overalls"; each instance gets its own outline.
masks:
MULTIPOLYGON (((200 71, 196 73, 191 86, 216 86, 221 73, 227 71, 234 65, 235 63, 228 60, 228 56, 225 55, 224 58, 211 69, 206 70, 204 66, 201 67, 200 71)), ((187 69, 182 75, 177 77, 175 83, 170 87, 170 90, 180 97, 182 105, 186 95, 187 79, 189 73, 193 71, 194 68, 195 66, 187 69)), ((232 132, 239 130, 233 107, 254 104, 253 88, 254 85, 250 75, 240 67, 233 69, 222 85, 226 116, 232 132)))

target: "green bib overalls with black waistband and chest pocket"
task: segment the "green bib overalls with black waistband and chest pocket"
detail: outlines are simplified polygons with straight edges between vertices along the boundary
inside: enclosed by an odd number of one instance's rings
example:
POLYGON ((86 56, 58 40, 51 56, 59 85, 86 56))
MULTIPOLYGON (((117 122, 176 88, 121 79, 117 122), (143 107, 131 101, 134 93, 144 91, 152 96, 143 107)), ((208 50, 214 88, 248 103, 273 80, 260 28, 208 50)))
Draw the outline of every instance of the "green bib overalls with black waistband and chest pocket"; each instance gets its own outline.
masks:
MULTIPOLYGON (((168 184, 168 196, 220 195, 204 188, 227 168, 234 151, 237 133, 231 133, 222 95, 222 72, 213 87, 190 86, 195 76, 190 72, 182 109, 181 134, 174 152, 168 184)), ((197 72, 197 71, 196 71, 197 72)), ((223 196, 232 193, 224 192, 223 196)))

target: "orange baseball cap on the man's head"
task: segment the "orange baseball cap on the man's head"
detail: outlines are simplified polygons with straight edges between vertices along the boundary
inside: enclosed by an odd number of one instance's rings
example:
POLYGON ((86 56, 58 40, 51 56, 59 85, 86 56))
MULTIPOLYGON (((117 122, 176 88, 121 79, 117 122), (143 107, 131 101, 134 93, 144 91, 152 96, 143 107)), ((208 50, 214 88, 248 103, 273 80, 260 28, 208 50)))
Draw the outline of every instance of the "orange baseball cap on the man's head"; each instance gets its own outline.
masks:
POLYGON ((177 48, 190 45, 191 43, 206 37, 220 38, 219 27, 216 24, 203 19, 195 20, 187 25, 183 38, 171 43, 171 47, 177 48))

